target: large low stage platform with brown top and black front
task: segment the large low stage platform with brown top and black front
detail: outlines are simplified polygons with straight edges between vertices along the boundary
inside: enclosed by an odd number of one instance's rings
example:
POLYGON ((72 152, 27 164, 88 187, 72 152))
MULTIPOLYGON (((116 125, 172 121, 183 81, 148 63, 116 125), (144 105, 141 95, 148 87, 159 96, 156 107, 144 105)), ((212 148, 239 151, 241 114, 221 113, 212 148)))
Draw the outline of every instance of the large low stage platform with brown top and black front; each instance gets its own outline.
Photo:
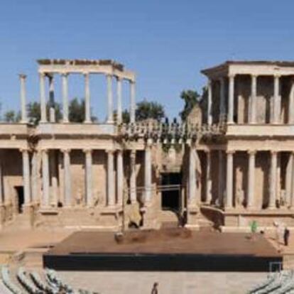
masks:
POLYGON ((282 256, 261 234, 187 229, 76 232, 43 255, 60 271, 268 271, 282 256))

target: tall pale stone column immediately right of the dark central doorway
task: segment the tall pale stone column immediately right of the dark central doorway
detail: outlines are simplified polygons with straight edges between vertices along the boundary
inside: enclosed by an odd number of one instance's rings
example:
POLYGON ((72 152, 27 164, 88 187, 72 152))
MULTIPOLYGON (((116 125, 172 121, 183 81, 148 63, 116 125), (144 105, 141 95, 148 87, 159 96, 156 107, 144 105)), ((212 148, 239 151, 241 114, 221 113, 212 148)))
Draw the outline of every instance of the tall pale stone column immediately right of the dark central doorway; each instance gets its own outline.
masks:
POLYGON ((189 184, 188 184, 188 205, 196 205, 196 148, 190 144, 189 154, 189 184))

